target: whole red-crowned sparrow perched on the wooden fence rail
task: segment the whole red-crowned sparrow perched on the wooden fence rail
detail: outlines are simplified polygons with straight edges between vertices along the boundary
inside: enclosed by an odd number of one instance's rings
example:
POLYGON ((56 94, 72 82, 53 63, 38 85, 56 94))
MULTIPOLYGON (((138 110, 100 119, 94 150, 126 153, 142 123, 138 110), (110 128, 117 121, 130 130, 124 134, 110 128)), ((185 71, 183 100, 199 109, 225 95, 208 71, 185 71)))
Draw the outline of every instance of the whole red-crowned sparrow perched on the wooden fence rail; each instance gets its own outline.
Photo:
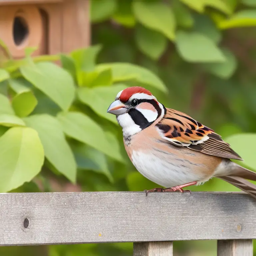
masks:
POLYGON ((162 188, 148 192, 184 192, 212 177, 227 181, 256 198, 256 173, 231 159, 242 158, 214 130, 157 101, 142 87, 120 91, 108 113, 123 129, 126 152, 135 168, 162 188))

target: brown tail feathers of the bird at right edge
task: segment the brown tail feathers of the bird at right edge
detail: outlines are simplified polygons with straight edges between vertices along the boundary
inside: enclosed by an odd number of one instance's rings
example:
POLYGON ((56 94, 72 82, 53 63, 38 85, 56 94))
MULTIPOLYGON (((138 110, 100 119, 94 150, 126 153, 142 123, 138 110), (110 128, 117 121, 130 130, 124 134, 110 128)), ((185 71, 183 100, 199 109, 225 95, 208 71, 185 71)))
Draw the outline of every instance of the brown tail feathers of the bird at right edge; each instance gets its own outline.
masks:
POLYGON ((248 180, 256 181, 256 173, 237 165, 232 174, 227 176, 218 177, 222 180, 229 182, 230 184, 240 188, 252 197, 256 198, 256 185, 248 180), (247 180, 248 179, 248 180, 247 180))

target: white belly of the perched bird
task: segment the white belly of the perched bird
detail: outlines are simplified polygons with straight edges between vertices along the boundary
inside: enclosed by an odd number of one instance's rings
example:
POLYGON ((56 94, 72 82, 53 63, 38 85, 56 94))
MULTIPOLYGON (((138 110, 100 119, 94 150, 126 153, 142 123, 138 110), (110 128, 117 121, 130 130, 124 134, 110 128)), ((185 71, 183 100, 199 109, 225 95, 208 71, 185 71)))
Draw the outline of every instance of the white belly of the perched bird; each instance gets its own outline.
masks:
POLYGON ((191 165, 179 159, 160 158, 141 151, 132 152, 132 163, 147 179, 164 187, 174 187, 188 182, 201 182, 202 175, 193 172, 191 165))

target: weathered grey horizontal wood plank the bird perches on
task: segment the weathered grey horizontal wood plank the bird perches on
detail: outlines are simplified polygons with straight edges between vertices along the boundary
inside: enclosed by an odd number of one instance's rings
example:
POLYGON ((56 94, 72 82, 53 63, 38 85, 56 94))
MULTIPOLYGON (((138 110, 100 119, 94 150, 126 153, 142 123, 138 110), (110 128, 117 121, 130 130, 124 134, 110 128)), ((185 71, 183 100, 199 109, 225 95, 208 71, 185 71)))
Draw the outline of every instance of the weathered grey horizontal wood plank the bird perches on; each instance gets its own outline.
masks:
POLYGON ((256 239, 255 212, 244 193, 3 193, 0 245, 256 239))

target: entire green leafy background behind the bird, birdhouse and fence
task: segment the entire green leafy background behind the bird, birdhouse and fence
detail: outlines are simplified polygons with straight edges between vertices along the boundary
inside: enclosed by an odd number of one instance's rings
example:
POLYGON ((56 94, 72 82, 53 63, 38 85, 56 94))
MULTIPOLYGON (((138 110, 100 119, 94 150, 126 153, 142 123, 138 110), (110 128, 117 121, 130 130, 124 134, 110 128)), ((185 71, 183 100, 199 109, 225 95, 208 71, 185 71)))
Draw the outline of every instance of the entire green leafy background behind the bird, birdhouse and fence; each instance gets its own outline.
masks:
MULTIPOLYGON (((67 55, 27 49, 12 60, 0 41, 0 192, 155 187, 106 113, 133 85, 214 129, 256 170, 255 0, 91 0, 90 18, 92 47, 67 55)), ((190 189, 239 191, 217 179, 190 189)), ((1 247, 0 255, 131 256, 132 247, 1 247)), ((174 255, 216 255, 216 241, 175 242, 174 255)))

